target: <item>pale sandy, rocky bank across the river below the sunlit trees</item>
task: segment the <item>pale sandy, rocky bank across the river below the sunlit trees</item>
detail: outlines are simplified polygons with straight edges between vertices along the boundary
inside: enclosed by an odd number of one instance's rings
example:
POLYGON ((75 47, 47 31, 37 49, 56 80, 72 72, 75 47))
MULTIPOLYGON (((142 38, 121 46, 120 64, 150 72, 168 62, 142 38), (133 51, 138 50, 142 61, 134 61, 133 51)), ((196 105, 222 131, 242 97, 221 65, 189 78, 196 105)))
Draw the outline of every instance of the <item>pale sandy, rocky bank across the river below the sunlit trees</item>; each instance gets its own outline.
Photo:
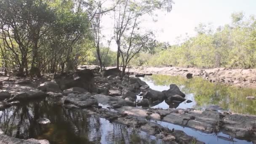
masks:
POLYGON ((224 83, 225 85, 256 88, 256 69, 199 69, 194 67, 131 67, 129 69, 129 72, 182 76, 186 76, 188 73, 191 73, 193 74, 193 76, 203 77, 206 80, 209 80, 213 83, 224 83))

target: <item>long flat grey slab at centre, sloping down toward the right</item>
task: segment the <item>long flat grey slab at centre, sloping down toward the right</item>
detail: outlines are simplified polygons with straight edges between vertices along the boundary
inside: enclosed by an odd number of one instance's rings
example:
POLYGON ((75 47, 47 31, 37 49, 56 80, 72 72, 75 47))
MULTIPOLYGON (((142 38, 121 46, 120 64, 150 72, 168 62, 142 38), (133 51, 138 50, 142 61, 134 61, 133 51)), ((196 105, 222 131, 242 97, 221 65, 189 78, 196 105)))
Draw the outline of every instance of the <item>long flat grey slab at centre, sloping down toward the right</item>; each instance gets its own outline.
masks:
POLYGON ((123 106, 132 106, 132 107, 136 106, 136 104, 133 103, 132 101, 127 101, 125 99, 120 99, 117 97, 105 96, 101 94, 94 95, 93 97, 97 99, 97 101, 100 104, 109 105, 113 108, 119 108, 123 106))

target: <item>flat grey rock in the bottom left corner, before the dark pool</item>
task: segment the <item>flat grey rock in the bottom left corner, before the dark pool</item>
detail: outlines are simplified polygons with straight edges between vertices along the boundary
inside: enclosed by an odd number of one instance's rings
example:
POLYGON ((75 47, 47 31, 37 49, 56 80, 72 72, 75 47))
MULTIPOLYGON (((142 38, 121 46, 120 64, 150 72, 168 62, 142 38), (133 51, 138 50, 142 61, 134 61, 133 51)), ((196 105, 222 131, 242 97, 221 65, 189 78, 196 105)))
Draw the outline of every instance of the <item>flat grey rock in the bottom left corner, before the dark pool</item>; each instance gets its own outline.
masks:
POLYGON ((4 134, 0 134, 0 144, 50 144, 48 140, 37 139, 16 139, 4 134))

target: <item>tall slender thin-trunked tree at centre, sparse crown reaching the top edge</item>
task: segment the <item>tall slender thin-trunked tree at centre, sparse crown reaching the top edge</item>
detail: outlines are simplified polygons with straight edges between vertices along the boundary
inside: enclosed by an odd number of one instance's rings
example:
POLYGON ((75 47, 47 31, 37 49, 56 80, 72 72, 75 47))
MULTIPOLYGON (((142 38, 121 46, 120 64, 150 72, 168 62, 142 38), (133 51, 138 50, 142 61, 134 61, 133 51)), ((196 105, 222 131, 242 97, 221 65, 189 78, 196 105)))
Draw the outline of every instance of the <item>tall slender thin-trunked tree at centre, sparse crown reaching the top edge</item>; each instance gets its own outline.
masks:
MULTIPOLYGON (((128 39, 130 39, 130 41, 133 39, 131 37, 133 37, 134 31, 139 30, 138 26, 141 16, 146 14, 151 15, 155 10, 160 8, 167 8, 167 11, 171 11, 172 4, 172 0, 121 0, 120 3, 118 3, 114 11, 114 34, 115 42, 117 44, 118 69, 120 65, 119 59, 122 53, 121 49, 123 41, 125 41, 124 37, 130 35, 128 36, 130 37, 128 39)), ((125 61, 123 61, 123 63, 125 63, 125 61)))

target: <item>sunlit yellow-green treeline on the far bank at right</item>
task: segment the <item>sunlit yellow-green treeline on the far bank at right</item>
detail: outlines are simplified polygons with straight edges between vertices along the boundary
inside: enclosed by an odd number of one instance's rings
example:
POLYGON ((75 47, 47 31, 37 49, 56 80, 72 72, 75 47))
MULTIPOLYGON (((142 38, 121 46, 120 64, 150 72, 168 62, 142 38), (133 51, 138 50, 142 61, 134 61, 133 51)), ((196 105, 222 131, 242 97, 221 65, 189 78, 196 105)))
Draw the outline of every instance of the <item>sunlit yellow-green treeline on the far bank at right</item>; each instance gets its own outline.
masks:
POLYGON ((200 24, 195 37, 180 45, 160 43, 155 54, 141 53, 137 66, 256 67, 256 17, 232 14, 232 24, 212 30, 200 24))

